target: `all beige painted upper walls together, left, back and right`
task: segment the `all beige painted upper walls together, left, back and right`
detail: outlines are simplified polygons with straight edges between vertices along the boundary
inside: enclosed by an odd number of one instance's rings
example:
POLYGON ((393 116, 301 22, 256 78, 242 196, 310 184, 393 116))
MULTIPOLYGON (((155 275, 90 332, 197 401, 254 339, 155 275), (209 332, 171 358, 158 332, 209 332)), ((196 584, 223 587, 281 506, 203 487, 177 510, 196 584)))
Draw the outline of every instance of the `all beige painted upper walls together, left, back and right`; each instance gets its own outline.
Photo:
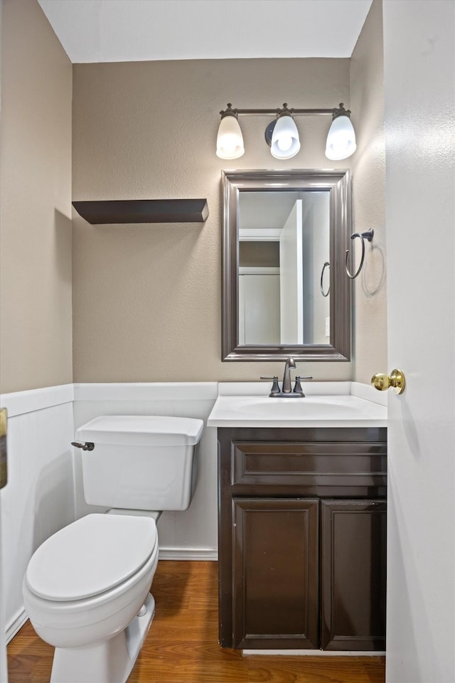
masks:
MULTIPOLYGON (((1 122, 1 391, 72 381, 71 65, 35 0, 4 0, 1 122)), ((203 226, 89 226, 75 212, 75 381, 256 379, 281 364, 220 361, 220 170, 328 166, 328 120, 299 118, 302 149, 278 162, 267 120, 242 118, 247 152, 215 157, 218 111, 350 104, 355 229, 375 228, 355 281, 355 364, 386 367, 382 6, 352 60, 203 60, 74 66, 73 198, 208 198, 203 226), (349 97, 350 89, 350 97, 349 97)), ((349 162, 351 160, 348 160, 349 162)), ((349 164, 330 162, 331 166, 349 164)))

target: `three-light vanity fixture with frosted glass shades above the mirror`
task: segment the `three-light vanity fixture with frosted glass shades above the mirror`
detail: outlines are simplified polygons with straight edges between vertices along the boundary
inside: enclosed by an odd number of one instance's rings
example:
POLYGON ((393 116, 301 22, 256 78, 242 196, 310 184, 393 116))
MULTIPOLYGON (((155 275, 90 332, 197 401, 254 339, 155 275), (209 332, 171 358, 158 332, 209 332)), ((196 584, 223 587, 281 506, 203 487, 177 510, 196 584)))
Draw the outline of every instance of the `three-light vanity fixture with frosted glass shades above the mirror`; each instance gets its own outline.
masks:
POLYGON ((340 161, 355 152, 355 132, 350 122, 350 110, 344 108, 343 102, 334 109, 289 109, 286 102, 282 109, 232 109, 229 103, 227 109, 220 111, 220 115, 216 144, 216 154, 220 159, 238 159, 245 154, 239 115, 275 116, 265 129, 265 140, 275 159, 291 159, 299 152, 295 116, 331 115, 332 124, 326 142, 328 159, 340 161))

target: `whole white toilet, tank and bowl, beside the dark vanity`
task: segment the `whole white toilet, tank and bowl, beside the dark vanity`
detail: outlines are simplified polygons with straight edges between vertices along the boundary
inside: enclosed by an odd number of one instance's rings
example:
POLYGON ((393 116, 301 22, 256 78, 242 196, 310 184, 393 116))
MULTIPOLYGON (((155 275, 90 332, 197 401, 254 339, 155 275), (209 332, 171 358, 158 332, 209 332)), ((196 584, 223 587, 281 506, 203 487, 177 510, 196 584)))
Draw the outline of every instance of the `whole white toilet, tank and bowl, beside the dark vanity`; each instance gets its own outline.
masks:
POLYGON ((188 509, 203 421, 103 415, 76 432, 87 514, 47 539, 23 578, 26 612, 55 647, 50 683, 125 683, 154 617, 156 520, 188 509))

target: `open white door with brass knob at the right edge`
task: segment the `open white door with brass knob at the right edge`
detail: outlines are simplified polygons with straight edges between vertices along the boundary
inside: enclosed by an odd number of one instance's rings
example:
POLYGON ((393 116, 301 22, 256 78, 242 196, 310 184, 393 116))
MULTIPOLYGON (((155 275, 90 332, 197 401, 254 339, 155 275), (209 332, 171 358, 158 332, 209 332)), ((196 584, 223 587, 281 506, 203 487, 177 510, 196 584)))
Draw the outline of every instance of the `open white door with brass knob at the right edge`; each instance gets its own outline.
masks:
MULTIPOLYGON (((387 683, 455 680, 453 0, 385 0, 387 683)), ((378 369, 380 371, 381 369, 378 369)))

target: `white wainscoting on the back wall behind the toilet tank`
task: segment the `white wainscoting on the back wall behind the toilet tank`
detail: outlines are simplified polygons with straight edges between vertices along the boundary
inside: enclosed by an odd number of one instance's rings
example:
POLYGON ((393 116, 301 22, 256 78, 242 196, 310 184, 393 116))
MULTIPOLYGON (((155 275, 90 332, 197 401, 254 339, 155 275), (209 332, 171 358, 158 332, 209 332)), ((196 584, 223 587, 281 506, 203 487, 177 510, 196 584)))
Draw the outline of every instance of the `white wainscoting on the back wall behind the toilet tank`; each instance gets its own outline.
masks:
MULTIPOLYGON (((74 385, 75 429, 97 415, 178 415, 204 420, 193 501, 188 510, 164 512, 158 521, 161 559, 218 558, 217 438, 216 429, 207 427, 217 396, 217 382, 74 385)), ((85 503, 80 452, 75 451, 76 514, 82 517, 104 508, 85 503)))

